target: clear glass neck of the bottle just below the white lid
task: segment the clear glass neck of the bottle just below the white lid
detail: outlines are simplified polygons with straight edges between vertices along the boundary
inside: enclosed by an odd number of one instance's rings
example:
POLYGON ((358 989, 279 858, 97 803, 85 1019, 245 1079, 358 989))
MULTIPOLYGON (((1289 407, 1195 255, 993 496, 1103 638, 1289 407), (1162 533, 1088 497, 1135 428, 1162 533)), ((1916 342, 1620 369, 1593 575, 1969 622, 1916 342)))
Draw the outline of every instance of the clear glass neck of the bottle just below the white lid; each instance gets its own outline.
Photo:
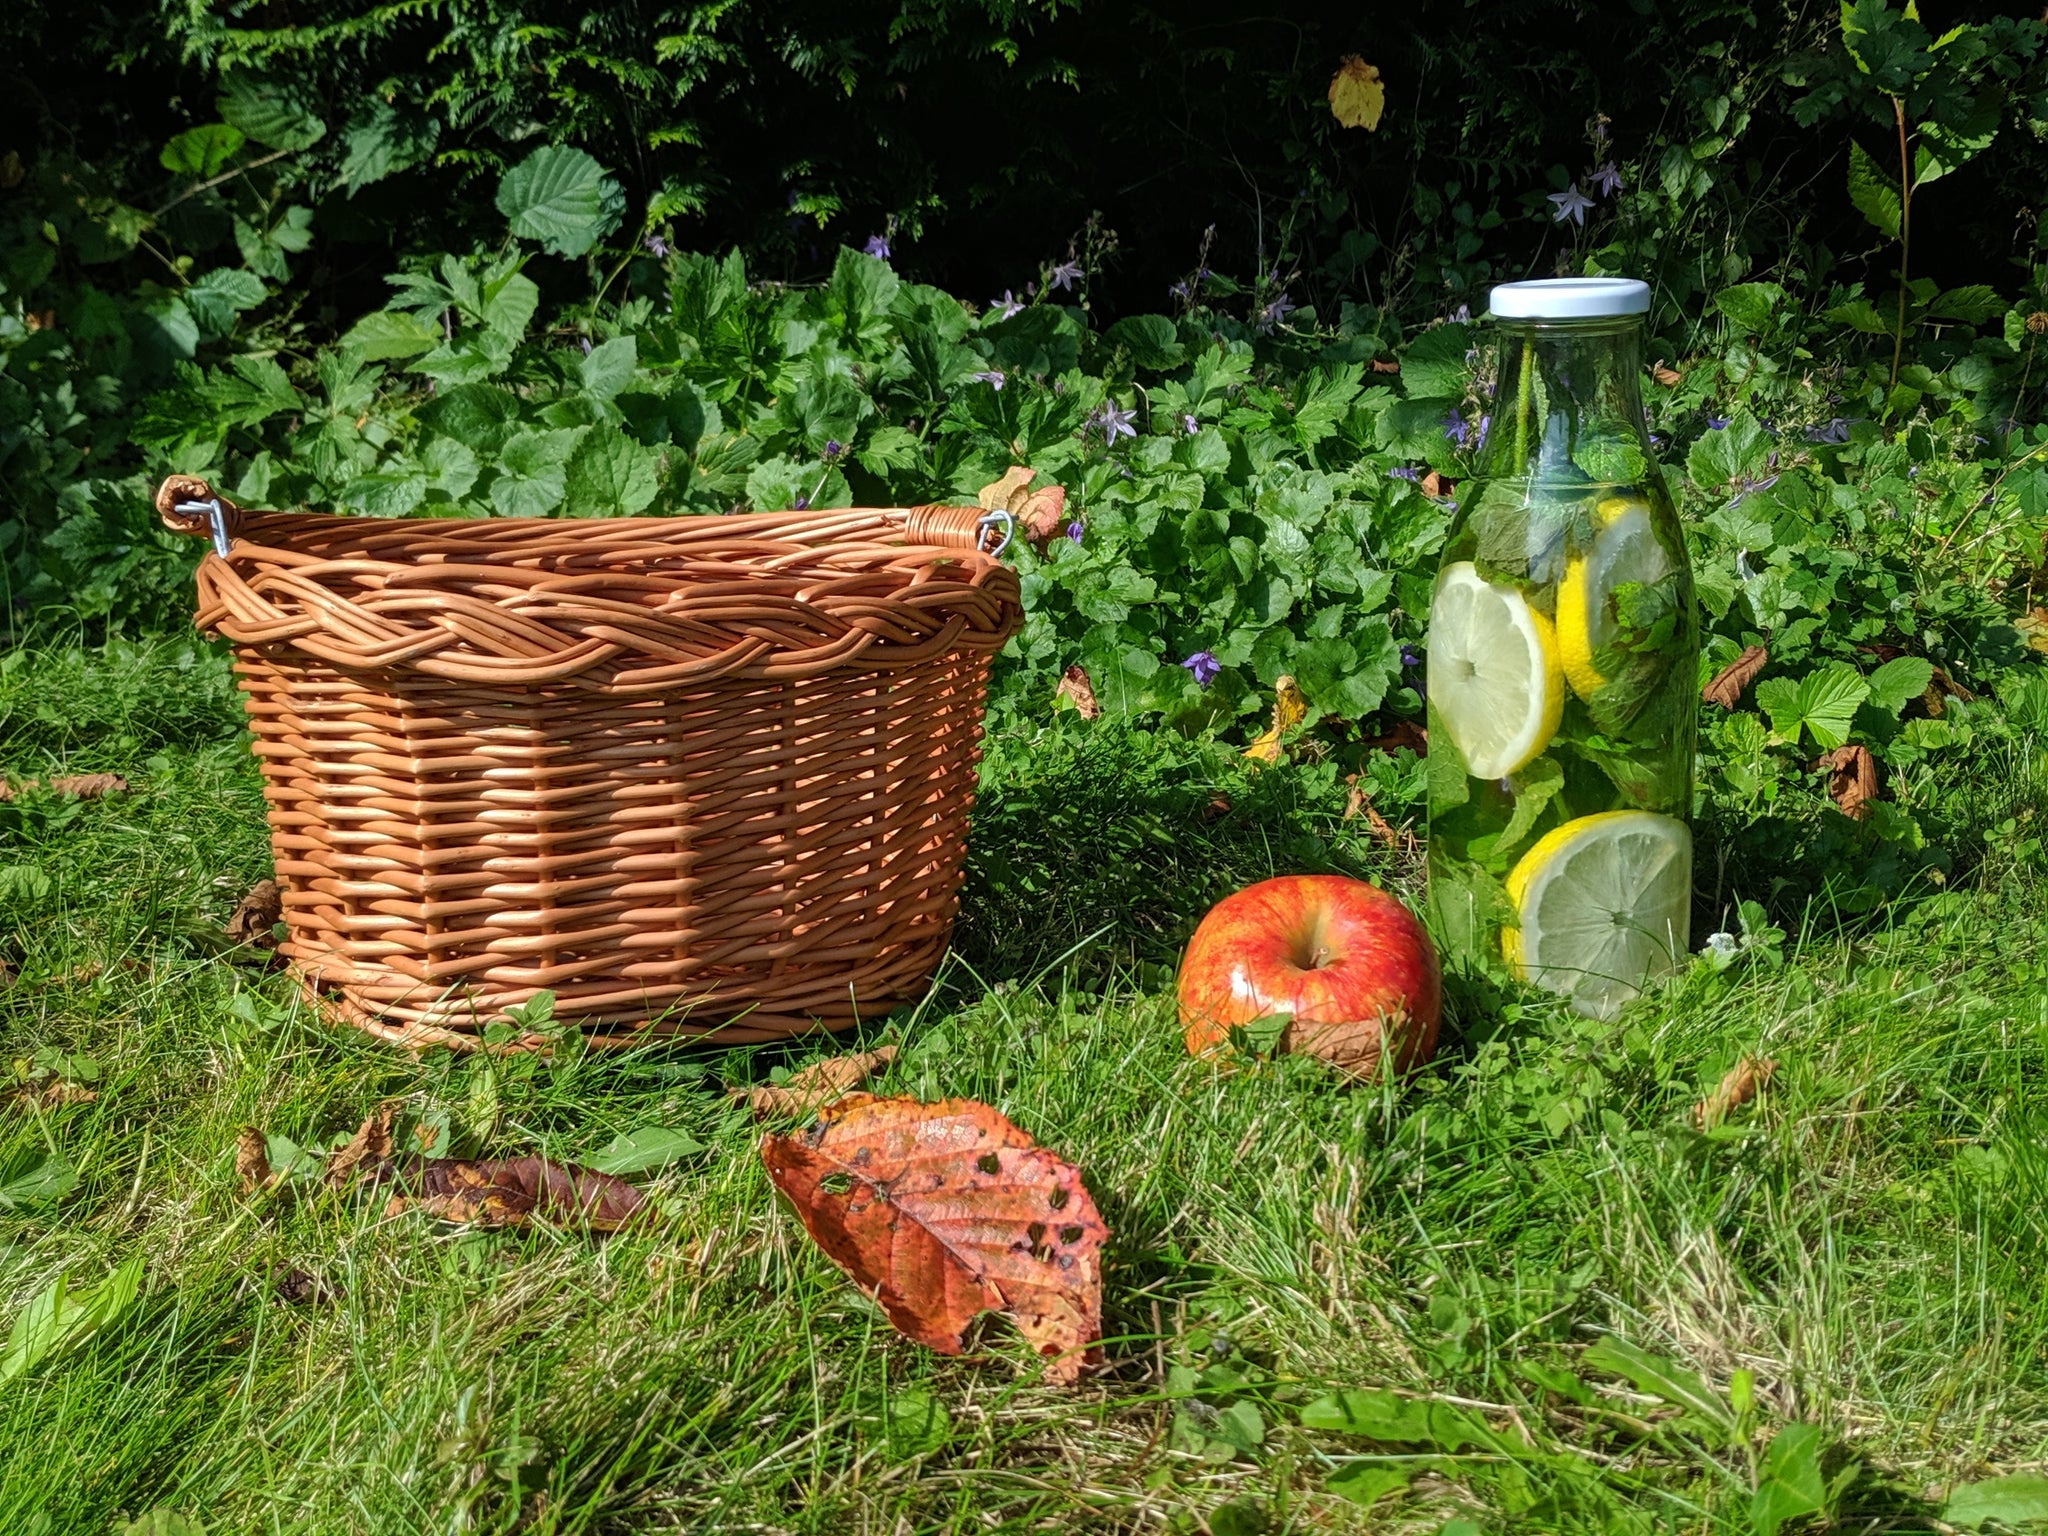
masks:
POLYGON ((1638 479, 1642 322, 1505 322, 1483 479, 1638 479))

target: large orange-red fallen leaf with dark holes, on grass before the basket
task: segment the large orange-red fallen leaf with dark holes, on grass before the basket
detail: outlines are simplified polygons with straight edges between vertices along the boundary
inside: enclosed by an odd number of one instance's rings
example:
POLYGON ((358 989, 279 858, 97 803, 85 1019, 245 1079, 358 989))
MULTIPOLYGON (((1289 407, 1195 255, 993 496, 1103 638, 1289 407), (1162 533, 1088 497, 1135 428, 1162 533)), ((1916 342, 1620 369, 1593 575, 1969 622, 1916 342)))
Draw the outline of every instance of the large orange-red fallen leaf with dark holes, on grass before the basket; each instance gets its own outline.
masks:
POLYGON ((870 1098, 762 1137, 768 1178, 825 1255, 905 1337, 961 1354, 1001 1313, 1079 1380, 1100 1360, 1110 1229, 1071 1163, 987 1104, 870 1098))

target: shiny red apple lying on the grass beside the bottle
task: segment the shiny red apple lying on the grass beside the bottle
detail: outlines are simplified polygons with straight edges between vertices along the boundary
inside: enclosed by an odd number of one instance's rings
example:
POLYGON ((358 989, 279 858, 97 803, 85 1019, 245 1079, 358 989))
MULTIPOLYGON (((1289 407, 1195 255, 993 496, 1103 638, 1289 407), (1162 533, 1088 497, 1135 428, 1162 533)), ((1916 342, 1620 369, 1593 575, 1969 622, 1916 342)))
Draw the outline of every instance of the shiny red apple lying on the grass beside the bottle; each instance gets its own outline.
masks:
POLYGON ((1444 983, 1415 913, 1376 885, 1286 874, 1225 897, 1188 940, 1180 1024, 1188 1051, 1221 1049, 1233 1028, 1290 1014, 1282 1051, 1370 1077, 1393 1053, 1409 1071, 1436 1053, 1444 983))

